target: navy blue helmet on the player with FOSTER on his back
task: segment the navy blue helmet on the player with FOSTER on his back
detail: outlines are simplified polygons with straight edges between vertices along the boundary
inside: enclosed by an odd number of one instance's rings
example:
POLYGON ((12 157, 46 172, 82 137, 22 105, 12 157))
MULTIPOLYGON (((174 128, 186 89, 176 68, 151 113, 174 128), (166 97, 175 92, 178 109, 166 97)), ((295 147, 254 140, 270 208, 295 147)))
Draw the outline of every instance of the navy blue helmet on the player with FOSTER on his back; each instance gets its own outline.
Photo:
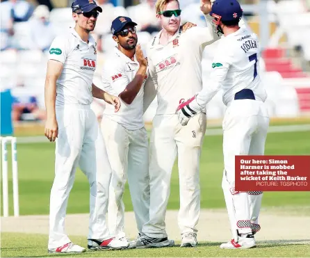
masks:
POLYGON ((237 0, 215 0, 210 15, 220 15, 224 22, 240 20, 243 15, 240 3, 237 0))

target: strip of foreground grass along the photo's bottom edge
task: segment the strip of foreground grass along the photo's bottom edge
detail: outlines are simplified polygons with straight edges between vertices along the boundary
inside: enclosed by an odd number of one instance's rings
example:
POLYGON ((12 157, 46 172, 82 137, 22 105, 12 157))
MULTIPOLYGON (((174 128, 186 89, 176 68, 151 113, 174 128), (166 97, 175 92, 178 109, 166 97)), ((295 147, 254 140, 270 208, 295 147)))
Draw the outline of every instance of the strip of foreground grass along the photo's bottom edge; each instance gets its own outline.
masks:
MULTIPOLYGON (((72 236, 72 241, 85 246, 85 238, 72 236)), ((310 245, 300 243, 257 243, 247 250, 221 250, 218 242, 199 243, 197 248, 133 249, 87 251, 81 255, 48 255, 47 235, 1 234, 1 257, 309 257, 310 245), (17 244, 18 243, 18 244, 17 244)))

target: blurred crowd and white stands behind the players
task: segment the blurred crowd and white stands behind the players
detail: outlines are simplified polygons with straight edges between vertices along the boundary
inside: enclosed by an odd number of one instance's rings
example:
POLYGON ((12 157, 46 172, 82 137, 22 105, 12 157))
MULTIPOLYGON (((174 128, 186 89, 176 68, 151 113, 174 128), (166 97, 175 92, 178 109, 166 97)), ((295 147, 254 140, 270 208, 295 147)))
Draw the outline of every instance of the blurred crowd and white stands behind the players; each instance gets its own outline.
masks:
MULTIPOLYGON (((228 1, 228 0, 227 0, 228 1)), ((179 0, 182 24, 206 26, 199 0, 179 0)), ((138 26, 138 42, 145 50, 147 42, 161 30, 154 10, 156 0, 97 0, 103 9, 92 35, 97 40, 97 70, 94 82, 101 85, 101 67, 113 51, 111 22, 118 15, 131 17, 138 26)), ((268 92, 272 118, 294 118, 310 114, 310 0, 240 0, 245 24, 261 40, 261 77, 268 92)), ((15 124, 44 122, 44 79, 49 46, 56 35, 74 26, 72 1, 1 1, 0 90, 1 110, 12 103, 15 124), (9 93, 9 94, 8 94, 9 93), (5 97, 6 94, 10 97, 5 97), (11 99, 11 100, 10 100, 11 99)), ((217 43, 203 53, 203 79, 211 72, 217 43)), ((95 99, 92 108, 98 118, 104 102, 95 99)), ((1 111, 1 116, 2 115, 1 111)), ((151 121, 156 99, 145 113, 151 121)), ((208 104, 209 119, 221 119, 225 113, 221 92, 208 104)), ((3 121, 2 121, 3 122, 3 121)))

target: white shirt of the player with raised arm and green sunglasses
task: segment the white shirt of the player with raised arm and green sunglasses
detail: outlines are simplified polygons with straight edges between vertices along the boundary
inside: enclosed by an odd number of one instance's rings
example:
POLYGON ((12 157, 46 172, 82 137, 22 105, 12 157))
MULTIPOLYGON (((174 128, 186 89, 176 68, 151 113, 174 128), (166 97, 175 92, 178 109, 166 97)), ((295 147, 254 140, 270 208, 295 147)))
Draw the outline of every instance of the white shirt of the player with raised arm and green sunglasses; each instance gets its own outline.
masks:
POLYGON ((207 27, 178 31, 165 46, 159 43, 162 31, 149 42, 149 75, 158 85, 156 115, 174 114, 181 99, 190 99, 202 90, 202 52, 220 39, 213 32, 213 18, 208 16, 207 27))

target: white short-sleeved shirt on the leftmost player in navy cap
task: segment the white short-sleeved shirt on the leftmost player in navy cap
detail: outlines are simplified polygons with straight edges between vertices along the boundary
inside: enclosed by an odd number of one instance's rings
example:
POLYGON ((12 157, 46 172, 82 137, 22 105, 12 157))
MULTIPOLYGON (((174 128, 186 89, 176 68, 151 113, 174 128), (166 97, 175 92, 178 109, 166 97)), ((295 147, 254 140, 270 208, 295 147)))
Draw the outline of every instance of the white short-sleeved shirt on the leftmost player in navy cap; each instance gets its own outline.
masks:
POLYGON ((56 106, 92 103, 92 79, 97 64, 96 42, 81 39, 72 28, 67 35, 57 36, 49 48, 49 60, 63 63, 57 82, 56 106))

